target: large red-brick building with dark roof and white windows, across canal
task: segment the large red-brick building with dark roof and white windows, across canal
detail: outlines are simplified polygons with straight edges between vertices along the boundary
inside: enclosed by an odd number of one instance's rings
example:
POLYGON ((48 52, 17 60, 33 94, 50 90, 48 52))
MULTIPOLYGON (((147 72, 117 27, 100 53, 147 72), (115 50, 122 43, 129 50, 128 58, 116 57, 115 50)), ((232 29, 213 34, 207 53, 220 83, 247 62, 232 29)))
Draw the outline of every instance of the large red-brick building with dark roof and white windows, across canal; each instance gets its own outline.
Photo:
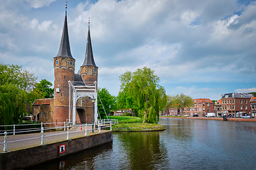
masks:
POLYGON ((250 99, 252 94, 230 93, 224 94, 221 100, 221 113, 235 118, 242 115, 252 115, 250 99))

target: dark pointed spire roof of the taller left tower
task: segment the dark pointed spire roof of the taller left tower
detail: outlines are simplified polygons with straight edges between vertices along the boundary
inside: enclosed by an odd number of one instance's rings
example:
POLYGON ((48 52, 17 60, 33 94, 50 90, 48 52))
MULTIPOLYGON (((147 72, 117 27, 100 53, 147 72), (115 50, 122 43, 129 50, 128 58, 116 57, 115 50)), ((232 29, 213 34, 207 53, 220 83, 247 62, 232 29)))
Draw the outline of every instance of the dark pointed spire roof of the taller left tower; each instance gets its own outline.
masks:
POLYGON ((68 21, 67 11, 65 12, 65 21, 63 26, 63 35, 60 40, 60 49, 56 57, 70 57, 73 58, 70 51, 70 44, 68 39, 68 21))

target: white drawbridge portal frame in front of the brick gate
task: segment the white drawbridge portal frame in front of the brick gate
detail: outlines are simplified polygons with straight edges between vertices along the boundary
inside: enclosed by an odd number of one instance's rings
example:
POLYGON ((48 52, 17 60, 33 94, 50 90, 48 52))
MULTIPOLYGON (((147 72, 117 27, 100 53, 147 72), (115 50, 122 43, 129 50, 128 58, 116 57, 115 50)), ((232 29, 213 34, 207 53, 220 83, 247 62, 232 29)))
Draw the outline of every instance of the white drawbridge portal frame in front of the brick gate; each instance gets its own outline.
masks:
MULTIPOLYGON (((87 97, 95 98, 96 101, 94 103, 95 109, 94 109, 94 123, 97 123, 97 82, 95 81, 94 85, 81 85, 81 82, 72 82, 68 81, 69 84, 69 118, 68 123, 71 123, 70 116, 71 116, 71 107, 73 108, 72 111, 72 123, 75 125, 75 103, 78 101, 78 98, 87 97), (76 86, 75 84, 80 84, 79 86, 76 86), (72 89, 71 89, 72 88, 72 89), (71 106, 71 90, 73 91, 73 104, 71 106)), ((82 82, 83 84, 83 82, 82 82)))

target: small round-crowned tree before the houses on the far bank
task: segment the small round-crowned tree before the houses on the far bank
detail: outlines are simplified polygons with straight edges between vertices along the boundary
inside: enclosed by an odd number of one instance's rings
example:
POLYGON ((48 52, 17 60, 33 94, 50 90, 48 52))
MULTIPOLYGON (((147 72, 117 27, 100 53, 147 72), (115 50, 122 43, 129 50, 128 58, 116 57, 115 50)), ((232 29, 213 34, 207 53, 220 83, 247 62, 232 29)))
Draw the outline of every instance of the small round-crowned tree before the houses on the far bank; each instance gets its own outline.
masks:
POLYGON ((191 96, 186 96, 185 94, 176 96, 169 96, 169 105, 173 108, 178 108, 181 110, 181 115, 183 115, 184 108, 190 108, 193 106, 193 98, 191 96))

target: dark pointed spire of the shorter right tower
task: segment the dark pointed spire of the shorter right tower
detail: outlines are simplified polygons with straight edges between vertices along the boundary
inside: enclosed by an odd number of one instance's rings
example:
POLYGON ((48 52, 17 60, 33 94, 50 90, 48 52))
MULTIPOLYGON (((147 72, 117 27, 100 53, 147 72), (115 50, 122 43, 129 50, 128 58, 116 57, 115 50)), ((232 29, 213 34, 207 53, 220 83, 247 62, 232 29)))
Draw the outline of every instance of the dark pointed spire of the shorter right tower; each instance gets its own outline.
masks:
POLYGON ((92 54, 92 42, 90 39, 90 18, 88 22, 88 35, 87 35, 87 45, 86 45, 86 52, 85 52, 85 61, 82 66, 96 66, 95 61, 93 59, 92 54))

